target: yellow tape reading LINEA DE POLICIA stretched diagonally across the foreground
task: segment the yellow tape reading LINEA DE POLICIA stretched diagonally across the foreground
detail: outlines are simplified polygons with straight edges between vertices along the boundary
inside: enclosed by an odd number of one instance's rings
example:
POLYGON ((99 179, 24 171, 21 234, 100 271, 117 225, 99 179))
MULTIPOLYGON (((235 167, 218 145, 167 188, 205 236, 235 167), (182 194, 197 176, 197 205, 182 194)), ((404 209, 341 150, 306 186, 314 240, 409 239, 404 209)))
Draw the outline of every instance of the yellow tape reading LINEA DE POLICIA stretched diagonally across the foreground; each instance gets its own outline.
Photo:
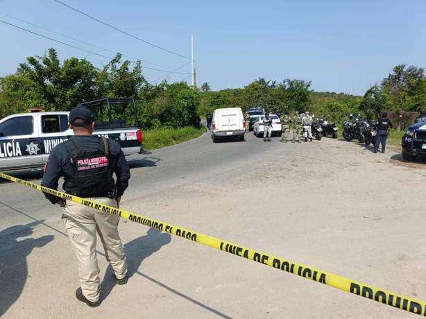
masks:
POLYGON ((287 259, 269 255, 266 252, 262 252, 260 250, 253 250, 241 245, 236 245, 235 243, 222 241, 221 239, 217 239, 212 236, 194 232, 193 230, 187 230, 169 223, 156 221, 153 218, 140 216, 132 212, 127 212, 123 209, 103 205, 85 198, 62 193, 61 191, 55 191, 54 189, 42 187, 39 184, 27 182, 26 180, 20 180, 19 178, 14 178, 4 173, 0 173, 0 178, 5 178, 6 180, 17 182, 24 186, 37 189, 38 191, 51 193, 52 195, 58 196, 60 198, 65 198, 66 200, 71 200, 73 202, 77 202, 78 204, 92 207, 94 209, 99 209, 101 212, 106 212, 108 214, 127 219, 128 221, 133 221, 148 227, 153 227, 157 230, 161 230, 162 232, 168 232, 170 234, 189 239, 190 241, 195 241, 196 243, 202 243, 203 245, 207 245, 224 252, 229 252, 232 255, 243 257, 251 261, 257 261, 260 264, 284 270, 287 271, 287 273, 299 275, 301 277, 314 280, 315 282, 326 284, 327 286, 339 288, 343 291, 381 302, 382 304, 387 304, 389 306, 409 311, 411 313, 417 313, 419 315, 426 316, 426 302, 420 300, 415 300, 398 293, 391 293, 389 291, 363 284, 361 282, 355 282, 351 279, 341 277, 339 275, 334 275, 323 270, 305 266, 303 264, 298 264, 294 261, 289 261, 287 259))

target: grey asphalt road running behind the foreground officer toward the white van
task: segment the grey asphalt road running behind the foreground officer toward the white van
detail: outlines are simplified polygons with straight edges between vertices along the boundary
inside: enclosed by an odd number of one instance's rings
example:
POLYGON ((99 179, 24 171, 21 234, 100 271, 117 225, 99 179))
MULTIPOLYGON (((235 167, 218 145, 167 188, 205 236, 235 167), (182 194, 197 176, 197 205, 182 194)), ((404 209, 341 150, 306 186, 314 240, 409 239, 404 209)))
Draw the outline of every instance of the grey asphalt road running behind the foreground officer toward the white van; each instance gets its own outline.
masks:
MULTIPOLYGON (((273 155, 276 148, 272 145, 279 140, 280 137, 273 137, 272 142, 263 142, 250 132, 246 135, 244 142, 213 143, 209 131, 198 139, 176 146, 146 151, 142 155, 131 155, 128 157, 128 164, 132 177, 130 187, 123 196, 122 205, 191 181, 208 182, 215 174, 262 161, 267 154, 273 155)), ((17 172, 12 175, 40 184, 42 171, 17 172)), ((5 205, 4 207, 12 207, 12 209, 0 207, 2 213, 0 230, 28 221, 28 217, 19 212, 28 214, 35 220, 44 219, 47 222, 56 221, 58 218, 58 207, 50 205, 40 192, 5 181, 0 184, 0 187, 2 193, 0 204, 5 205), (43 208, 40 209, 40 207, 43 208)))

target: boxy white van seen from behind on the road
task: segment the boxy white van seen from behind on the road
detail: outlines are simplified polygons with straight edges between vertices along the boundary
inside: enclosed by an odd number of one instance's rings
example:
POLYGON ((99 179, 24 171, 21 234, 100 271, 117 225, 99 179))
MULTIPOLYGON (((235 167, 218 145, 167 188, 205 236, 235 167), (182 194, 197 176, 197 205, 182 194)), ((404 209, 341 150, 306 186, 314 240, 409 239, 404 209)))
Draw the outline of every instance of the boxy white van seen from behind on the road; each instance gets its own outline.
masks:
POLYGON ((244 141, 246 121, 244 121, 241 107, 216 109, 213 112, 212 139, 216 142, 224 137, 236 137, 244 141))

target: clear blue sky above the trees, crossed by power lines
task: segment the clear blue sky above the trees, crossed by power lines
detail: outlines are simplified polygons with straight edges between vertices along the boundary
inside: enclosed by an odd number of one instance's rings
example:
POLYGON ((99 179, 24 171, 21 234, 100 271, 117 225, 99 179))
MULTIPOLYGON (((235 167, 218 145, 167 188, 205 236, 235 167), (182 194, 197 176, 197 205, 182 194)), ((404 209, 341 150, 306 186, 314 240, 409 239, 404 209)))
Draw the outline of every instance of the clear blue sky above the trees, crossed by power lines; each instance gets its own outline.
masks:
MULTIPOLYGON (((197 85, 208 82, 213 90, 244 87, 259 77, 278 82, 301 78, 312 81, 316 91, 362 95, 396 64, 426 67, 425 0, 61 1, 187 57, 194 33, 197 85)), ((146 61, 143 67, 172 71, 190 62, 54 0, 0 0, 0 20, 101 55, 120 52, 131 56, 129 60, 146 61)), ((61 60, 86 58, 99 68, 109 61, 3 23, 0 38, 0 76, 14 73, 27 56, 43 55, 49 47, 58 51, 61 60)), ((178 71, 190 72, 191 64, 178 71)), ((150 83, 167 76, 150 69, 143 69, 143 74, 150 83)), ((191 83, 187 76, 169 74, 168 80, 186 78, 191 83)))

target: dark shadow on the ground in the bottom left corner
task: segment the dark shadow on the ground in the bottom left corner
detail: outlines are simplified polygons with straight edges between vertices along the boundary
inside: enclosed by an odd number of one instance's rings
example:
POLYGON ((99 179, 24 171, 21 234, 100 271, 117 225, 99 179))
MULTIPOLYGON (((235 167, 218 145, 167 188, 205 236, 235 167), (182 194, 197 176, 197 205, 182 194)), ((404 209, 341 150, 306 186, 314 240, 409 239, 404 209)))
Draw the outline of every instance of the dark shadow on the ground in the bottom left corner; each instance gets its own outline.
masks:
POLYGON ((46 235, 37 239, 17 240, 31 236, 33 227, 43 222, 44 220, 26 225, 15 225, 0 232, 0 316, 15 303, 22 293, 28 277, 26 257, 31 254, 33 248, 43 247, 54 238, 53 235, 46 235))

